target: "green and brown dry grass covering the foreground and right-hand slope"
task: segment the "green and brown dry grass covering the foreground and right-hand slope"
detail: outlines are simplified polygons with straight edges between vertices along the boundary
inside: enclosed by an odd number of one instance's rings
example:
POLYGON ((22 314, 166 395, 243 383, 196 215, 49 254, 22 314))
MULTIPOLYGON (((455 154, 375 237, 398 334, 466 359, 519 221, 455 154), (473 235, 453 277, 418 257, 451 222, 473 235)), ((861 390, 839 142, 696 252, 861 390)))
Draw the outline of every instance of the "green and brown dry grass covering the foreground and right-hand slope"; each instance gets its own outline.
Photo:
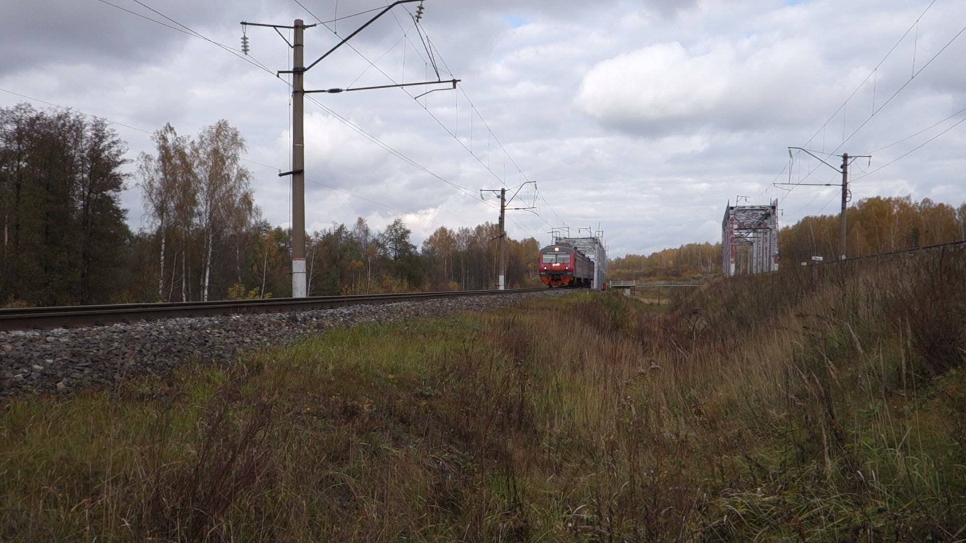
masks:
POLYGON ((923 293, 966 265, 921 264, 334 329, 16 399, 0 539, 962 539, 966 300, 923 293))

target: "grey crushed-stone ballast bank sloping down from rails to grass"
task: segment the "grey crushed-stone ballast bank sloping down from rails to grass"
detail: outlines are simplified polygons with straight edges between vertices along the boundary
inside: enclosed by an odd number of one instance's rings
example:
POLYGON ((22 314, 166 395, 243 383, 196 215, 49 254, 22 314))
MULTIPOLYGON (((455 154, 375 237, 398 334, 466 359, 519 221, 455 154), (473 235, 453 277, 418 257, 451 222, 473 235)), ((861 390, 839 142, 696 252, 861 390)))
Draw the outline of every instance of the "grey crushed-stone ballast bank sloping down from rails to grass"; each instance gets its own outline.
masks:
POLYGON ((397 301, 331 309, 141 321, 105 327, 0 331, 0 402, 23 393, 69 393, 128 377, 165 374, 186 360, 225 361, 321 330, 482 311, 546 292, 397 301))

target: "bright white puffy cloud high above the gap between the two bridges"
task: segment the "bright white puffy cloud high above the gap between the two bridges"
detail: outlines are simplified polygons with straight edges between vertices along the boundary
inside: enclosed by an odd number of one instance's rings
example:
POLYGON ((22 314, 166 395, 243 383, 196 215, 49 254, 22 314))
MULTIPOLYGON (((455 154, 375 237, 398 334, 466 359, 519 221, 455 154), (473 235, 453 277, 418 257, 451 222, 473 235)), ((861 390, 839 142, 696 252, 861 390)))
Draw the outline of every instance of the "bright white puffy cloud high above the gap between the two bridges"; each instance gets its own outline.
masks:
POLYGON ((817 48, 801 39, 714 43, 705 51, 655 43, 595 65, 576 103, 622 129, 753 129, 807 118, 822 70, 817 48))

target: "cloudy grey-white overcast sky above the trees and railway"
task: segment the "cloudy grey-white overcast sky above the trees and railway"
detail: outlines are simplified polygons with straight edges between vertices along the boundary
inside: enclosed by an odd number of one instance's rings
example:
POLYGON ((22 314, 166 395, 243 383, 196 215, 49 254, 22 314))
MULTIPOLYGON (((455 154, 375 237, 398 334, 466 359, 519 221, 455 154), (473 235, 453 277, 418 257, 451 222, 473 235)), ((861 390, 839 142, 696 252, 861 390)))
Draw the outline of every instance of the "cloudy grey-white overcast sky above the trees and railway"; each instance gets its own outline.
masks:
MULTIPOLYGON (((287 225, 289 180, 277 177, 291 156, 287 84, 135 14, 231 48, 240 47, 241 20, 316 17, 295 0, 109 1, 117 7, 0 0, 0 89, 127 125, 115 129, 131 159, 152 151, 150 134, 138 129, 170 122, 195 134, 227 119, 247 140, 247 157, 271 166, 246 162, 258 205, 271 223, 287 225)), ((337 11, 335 0, 301 2, 329 20, 387 0, 341 0, 337 11)), ((338 42, 332 31, 345 36, 369 16, 306 30, 306 60, 338 42)), ((954 39, 964 25, 961 0, 426 0, 421 26, 440 76, 462 79, 462 91, 418 101, 421 87, 314 95, 339 117, 306 101, 306 224, 322 229, 364 216, 383 228, 403 216, 418 243, 439 226, 495 222, 493 201, 482 202, 478 190, 529 179, 546 203, 537 199, 539 215, 512 212, 514 238, 549 243, 551 225, 569 225, 572 234, 600 225, 611 257, 717 242, 725 204, 739 194, 754 203, 781 198, 783 224, 836 213, 834 187, 772 186, 789 181, 787 146, 873 152, 870 165, 853 165, 853 200, 911 194, 959 204, 966 125, 950 128, 966 117, 966 36, 954 39)), ((249 60, 288 68, 290 49, 271 29, 249 27, 247 35, 249 60)), ((306 87, 436 76, 402 7, 351 43, 357 52, 333 53, 306 74, 306 87)), ((0 92, 0 106, 25 100, 0 92)), ((805 155, 790 171, 792 183, 838 183, 835 171, 805 155)), ((135 183, 124 204, 140 228, 135 183)), ((514 204, 532 202, 526 187, 514 204)))

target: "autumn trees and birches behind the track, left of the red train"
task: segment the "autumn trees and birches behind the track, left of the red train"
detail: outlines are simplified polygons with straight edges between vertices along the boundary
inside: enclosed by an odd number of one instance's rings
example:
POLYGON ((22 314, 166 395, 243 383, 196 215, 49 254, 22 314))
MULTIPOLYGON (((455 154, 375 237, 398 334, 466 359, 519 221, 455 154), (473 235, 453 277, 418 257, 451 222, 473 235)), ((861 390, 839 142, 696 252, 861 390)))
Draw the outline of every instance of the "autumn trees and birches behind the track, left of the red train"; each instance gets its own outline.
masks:
MULTIPOLYGON (((0 108, 0 305, 291 295, 290 231, 255 205, 244 138, 219 121, 195 137, 166 125, 125 173, 103 121, 27 104, 0 108), (140 189, 131 232, 122 190, 140 189)), ((497 225, 438 228, 421 246, 397 218, 359 217, 307 236, 310 295, 469 290, 497 283, 497 225)), ((509 286, 539 284, 536 240, 507 241, 509 286)))

